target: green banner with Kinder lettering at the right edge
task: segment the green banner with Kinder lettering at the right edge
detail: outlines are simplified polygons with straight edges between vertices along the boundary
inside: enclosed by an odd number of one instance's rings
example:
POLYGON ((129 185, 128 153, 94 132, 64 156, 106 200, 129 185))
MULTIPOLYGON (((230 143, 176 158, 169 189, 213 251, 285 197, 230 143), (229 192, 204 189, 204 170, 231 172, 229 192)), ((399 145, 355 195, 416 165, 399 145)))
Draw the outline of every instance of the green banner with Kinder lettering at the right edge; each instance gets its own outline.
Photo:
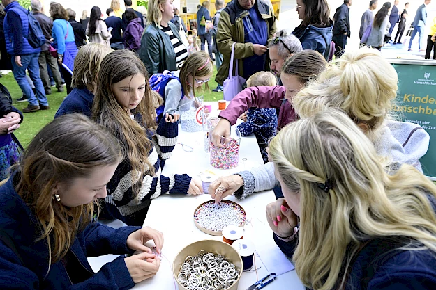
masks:
POLYGON ((400 113, 403 121, 419 124, 430 135, 421 164, 424 174, 436 179, 436 66, 423 61, 392 63, 398 73, 397 104, 393 111, 400 113))

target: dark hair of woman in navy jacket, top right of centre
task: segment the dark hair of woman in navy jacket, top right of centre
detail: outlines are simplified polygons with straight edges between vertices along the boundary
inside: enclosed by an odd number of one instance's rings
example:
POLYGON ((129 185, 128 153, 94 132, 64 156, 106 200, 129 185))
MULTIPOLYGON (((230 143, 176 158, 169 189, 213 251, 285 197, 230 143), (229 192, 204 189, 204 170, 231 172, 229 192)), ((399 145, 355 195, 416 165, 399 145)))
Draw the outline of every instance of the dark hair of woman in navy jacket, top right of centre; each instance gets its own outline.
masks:
POLYGON ((330 26, 330 9, 327 0, 303 0, 303 3, 306 6, 304 9, 304 26, 330 26))

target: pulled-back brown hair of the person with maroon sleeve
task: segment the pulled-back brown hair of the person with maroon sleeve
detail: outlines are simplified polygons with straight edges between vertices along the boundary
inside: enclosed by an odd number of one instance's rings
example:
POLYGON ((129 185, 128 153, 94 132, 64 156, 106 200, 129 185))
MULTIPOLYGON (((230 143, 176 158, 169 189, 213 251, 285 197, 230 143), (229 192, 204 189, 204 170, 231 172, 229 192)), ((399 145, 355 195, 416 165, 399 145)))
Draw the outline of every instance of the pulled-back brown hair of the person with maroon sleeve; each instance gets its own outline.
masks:
POLYGON ((327 61, 318 51, 306 49, 287 58, 282 73, 296 76, 301 83, 315 79, 326 69, 327 61))

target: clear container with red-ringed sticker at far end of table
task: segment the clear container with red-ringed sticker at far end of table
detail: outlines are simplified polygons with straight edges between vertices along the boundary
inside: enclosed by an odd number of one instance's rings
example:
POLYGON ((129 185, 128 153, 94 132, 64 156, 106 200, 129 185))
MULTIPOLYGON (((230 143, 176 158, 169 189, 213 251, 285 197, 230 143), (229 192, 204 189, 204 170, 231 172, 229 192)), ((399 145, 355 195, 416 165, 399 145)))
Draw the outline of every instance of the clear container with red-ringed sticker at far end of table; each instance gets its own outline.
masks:
POLYGON ((180 111, 180 126, 186 132, 198 132, 203 129, 202 127, 202 111, 204 106, 202 104, 202 97, 193 99, 179 106, 180 111))

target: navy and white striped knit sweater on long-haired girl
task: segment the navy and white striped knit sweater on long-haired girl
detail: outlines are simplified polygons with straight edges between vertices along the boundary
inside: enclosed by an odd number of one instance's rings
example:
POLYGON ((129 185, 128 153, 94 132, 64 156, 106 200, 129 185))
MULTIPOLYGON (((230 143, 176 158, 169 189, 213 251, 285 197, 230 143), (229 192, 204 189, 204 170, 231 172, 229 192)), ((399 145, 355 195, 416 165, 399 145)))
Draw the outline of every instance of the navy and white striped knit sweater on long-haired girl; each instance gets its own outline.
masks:
MULTIPOLYGON (((135 119, 141 118, 135 115, 135 119)), ((156 136, 151 138, 154 146, 149 152, 149 161, 154 165, 156 174, 145 175, 139 193, 135 196, 132 186, 140 181, 140 176, 132 170, 126 157, 116 168, 114 176, 107 184, 105 198, 105 214, 118 218, 127 225, 143 225, 151 199, 161 194, 188 193, 190 177, 188 175, 160 175, 174 146, 177 143, 179 127, 177 123, 167 123, 161 120, 156 129, 156 136)), ((103 216, 105 216, 103 214, 103 216)))

